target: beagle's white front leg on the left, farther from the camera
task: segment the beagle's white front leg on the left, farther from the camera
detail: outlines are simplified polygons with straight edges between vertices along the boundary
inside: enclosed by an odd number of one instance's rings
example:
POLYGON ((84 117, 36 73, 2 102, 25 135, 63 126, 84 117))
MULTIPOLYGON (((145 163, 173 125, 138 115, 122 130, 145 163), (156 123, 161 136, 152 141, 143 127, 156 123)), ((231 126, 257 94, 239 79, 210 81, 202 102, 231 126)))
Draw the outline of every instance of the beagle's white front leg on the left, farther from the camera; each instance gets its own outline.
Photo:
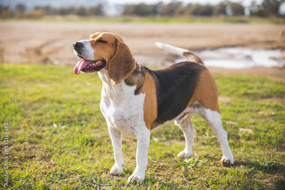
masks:
POLYGON ((113 175, 122 175, 122 171, 125 167, 122 152, 122 132, 108 125, 108 131, 112 140, 115 164, 111 168, 110 173, 113 175))

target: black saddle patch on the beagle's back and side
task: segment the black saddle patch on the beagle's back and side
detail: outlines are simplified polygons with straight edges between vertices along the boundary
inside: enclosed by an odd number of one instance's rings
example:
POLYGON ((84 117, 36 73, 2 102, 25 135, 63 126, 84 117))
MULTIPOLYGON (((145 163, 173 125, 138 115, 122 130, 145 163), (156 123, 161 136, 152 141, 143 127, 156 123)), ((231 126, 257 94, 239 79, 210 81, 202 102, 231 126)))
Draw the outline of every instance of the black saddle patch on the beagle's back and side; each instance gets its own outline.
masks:
POLYGON ((162 124, 176 118, 194 95, 199 75, 205 66, 195 62, 180 62, 161 70, 149 70, 156 83, 157 118, 162 124))

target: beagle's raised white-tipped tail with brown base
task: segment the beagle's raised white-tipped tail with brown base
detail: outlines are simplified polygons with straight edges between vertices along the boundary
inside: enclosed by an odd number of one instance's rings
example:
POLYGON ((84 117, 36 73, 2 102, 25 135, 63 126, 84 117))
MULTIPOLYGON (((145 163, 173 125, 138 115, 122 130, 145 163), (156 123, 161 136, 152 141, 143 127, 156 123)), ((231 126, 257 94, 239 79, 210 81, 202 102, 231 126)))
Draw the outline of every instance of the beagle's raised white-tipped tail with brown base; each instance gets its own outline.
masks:
POLYGON ((197 62, 197 63, 204 65, 204 62, 201 60, 201 58, 189 50, 177 48, 175 46, 160 43, 160 42, 155 42, 155 44, 162 49, 165 49, 165 50, 168 50, 172 53, 184 56, 184 57, 188 58, 189 61, 191 61, 191 62, 197 62))

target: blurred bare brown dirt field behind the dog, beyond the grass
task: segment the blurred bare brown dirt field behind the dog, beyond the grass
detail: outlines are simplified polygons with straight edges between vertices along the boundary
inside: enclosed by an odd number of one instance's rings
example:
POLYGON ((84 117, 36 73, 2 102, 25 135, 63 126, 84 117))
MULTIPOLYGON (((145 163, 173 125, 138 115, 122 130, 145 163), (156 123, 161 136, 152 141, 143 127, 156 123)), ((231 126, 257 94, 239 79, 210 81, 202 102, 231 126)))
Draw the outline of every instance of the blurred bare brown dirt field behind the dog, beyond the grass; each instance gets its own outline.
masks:
MULTIPOLYGON (((221 47, 285 50, 278 24, 92 23, 51 21, 0 21, 0 62, 75 65, 72 43, 95 32, 121 36, 136 60, 145 66, 163 67, 179 58, 159 51, 155 42, 192 51, 221 47)), ((203 58, 202 58, 203 59, 203 58)), ((213 73, 246 73, 278 79, 285 68, 209 68, 213 73)), ((285 81, 285 77, 283 79, 285 81)))

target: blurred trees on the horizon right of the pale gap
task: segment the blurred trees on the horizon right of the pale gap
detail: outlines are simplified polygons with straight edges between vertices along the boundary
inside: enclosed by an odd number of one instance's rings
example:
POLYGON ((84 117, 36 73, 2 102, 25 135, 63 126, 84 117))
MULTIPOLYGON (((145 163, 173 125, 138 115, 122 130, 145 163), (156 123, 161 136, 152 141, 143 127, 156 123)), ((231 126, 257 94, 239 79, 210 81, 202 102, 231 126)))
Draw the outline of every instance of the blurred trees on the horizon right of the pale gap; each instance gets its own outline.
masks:
POLYGON ((229 16, 241 16, 245 15, 245 11, 251 16, 281 16, 279 9, 284 0, 263 0, 261 4, 260 1, 253 1, 251 6, 243 7, 241 3, 234 3, 231 1, 222 1, 219 4, 213 6, 211 4, 191 4, 182 6, 181 1, 172 1, 168 4, 163 4, 162 2, 154 5, 146 5, 144 3, 138 5, 127 5, 123 15, 137 15, 137 16, 219 16, 219 15, 229 15, 229 16))

